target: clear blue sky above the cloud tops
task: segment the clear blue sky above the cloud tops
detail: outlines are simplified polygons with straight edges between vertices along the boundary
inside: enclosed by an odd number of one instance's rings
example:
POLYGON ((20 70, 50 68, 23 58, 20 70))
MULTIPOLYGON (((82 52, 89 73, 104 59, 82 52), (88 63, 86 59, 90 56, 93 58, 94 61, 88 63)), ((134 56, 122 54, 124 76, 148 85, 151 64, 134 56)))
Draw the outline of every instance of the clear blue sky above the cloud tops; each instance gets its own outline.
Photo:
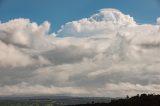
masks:
POLYGON ((0 20, 48 20, 52 31, 57 31, 66 22, 89 17, 102 8, 119 9, 138 23, 154 24, 160 16, 160 0, 0 0, 0 20))

